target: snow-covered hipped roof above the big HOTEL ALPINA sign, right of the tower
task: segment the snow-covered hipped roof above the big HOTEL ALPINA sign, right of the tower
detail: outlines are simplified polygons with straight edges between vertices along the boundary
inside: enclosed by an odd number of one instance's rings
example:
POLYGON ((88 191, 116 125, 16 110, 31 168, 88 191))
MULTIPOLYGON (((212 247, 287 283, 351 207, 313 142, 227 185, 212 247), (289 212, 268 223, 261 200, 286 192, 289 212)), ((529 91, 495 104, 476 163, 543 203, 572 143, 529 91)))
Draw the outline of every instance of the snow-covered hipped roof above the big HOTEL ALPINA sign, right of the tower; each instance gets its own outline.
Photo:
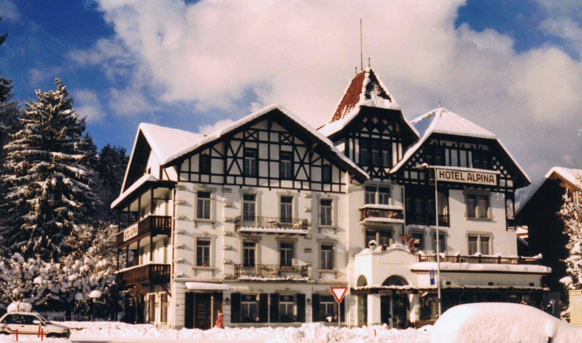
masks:
POLYGON ((487 129, 481 128, 481 126, 463 118, 462 116, 450 112, 446 108, 436 108, 426 114, 419 116, 418 118, 411 121, 415 129, 422 135, 420 140, 404 153, 404 156, 398 164, 391 169, 391 173, 398 171, 410 157, 420 148, 424 142, 432 135, 432 133, 444 133, 447 135, 457 135, 465 137, 475 137, 484 139, 494 139, 499 143, 499 146, 505 150, 505 153, 509 155, 514 164, 520 170, 527 181, 531 183, 529 176, 527 176, 526 171, 519 165, 517 160, 505 147, 505 145, 499 140, 495 133, 490 132, 487 129))

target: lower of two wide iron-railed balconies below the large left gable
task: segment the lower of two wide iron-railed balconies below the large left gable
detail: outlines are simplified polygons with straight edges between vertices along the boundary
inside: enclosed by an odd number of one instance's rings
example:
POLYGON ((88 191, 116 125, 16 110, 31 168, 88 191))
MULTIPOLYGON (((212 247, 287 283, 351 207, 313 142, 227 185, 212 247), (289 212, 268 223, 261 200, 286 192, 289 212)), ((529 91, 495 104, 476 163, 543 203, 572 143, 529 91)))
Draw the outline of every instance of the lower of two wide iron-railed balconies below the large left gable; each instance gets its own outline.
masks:
POLYGON ((307 281, 307 266, 279 266, 278 264, 235 265, 235 278, 252 281, 307 281))

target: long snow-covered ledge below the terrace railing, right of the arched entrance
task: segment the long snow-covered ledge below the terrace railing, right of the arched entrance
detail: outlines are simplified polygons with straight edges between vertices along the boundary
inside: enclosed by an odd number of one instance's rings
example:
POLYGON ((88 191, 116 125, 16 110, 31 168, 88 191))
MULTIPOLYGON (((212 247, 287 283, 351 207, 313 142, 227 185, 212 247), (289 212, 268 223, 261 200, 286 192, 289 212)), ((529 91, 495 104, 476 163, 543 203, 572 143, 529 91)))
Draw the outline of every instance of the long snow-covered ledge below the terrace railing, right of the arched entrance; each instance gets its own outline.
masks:
MULTIPOLYGON (((413 271, 428 271, 436 269, 436 262, 418 262, 410 267, 413 271)), ((493 263, 453 263, 441 262, 441 270, 446 271, 484 271, 490 273, 516 273, 516 274, 549 274, 552 268, 537 264, 493 264, 493 263)))

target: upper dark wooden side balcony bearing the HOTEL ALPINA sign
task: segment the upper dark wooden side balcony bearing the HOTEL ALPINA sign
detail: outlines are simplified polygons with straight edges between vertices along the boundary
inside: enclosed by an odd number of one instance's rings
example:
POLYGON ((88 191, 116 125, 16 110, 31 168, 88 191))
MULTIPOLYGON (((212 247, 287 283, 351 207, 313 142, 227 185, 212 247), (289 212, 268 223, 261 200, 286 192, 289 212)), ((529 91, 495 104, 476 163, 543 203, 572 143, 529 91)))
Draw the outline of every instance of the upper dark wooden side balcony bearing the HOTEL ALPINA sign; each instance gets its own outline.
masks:
POLYGON ((170 235, 172 217, 170 215, 148 215, 115 235, 115 246, 122 249, 149 235, 170 235))

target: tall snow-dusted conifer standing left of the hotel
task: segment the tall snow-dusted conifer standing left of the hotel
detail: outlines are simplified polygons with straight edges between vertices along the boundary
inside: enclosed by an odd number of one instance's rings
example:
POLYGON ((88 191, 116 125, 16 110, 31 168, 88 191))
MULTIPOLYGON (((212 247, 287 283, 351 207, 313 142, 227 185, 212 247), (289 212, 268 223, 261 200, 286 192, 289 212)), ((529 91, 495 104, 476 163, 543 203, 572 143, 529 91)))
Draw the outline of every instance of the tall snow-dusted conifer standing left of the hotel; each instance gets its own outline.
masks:
POLYGON ((97 199, 91 191, 95 146, 60 79, 56 90, 26 102, 21 130, 5 146, 2 245, 25 257, 58 260, 63 238, 85 224, 97 199))

